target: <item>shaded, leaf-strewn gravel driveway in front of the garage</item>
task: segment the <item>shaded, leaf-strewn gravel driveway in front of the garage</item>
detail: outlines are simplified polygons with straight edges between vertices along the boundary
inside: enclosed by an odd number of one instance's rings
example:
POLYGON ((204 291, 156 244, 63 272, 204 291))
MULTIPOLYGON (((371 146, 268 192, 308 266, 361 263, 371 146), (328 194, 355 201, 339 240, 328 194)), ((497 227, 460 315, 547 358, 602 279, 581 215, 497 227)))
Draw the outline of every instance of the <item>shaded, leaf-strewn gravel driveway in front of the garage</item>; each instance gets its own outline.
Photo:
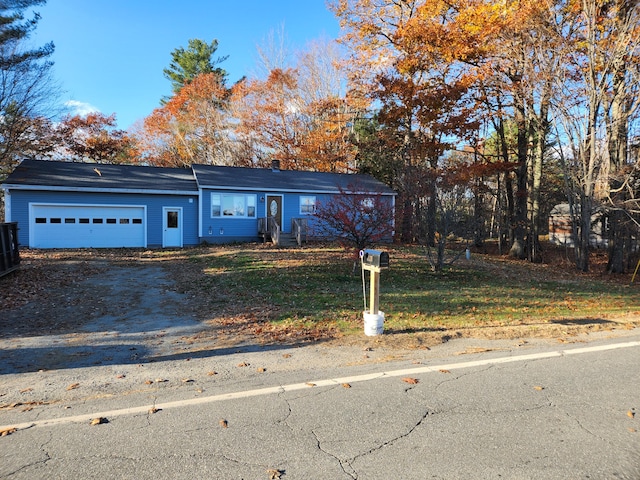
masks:
POLYGON ((173 286, 159 265, 98 264, 81 281, 49 289, 44 301, 4 310, 0 374, 188 355, 204 326, 193 299, 173 286))

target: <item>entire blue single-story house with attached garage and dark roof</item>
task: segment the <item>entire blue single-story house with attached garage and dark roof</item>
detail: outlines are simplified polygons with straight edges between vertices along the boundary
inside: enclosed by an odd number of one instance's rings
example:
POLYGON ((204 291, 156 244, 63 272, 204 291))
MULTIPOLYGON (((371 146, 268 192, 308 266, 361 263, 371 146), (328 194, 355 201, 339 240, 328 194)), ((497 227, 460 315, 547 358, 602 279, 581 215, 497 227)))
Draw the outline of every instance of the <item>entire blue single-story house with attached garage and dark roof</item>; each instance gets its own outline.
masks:
POLYGON ((368 175, 193 165, 159 168, 24 160, 2 184, 7 222, 31 248, 182 247, 290 235, 315 206, 368 175), (275 232, 274 229, 277 229, 275 232))

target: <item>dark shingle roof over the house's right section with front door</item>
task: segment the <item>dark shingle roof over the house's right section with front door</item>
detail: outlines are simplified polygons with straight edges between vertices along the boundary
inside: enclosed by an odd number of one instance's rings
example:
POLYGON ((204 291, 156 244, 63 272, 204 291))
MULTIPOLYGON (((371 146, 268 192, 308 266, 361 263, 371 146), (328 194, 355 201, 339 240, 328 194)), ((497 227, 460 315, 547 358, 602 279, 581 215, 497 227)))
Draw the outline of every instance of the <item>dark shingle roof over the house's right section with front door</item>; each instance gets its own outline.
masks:
POLYGON ((350 191, 355 187, 360 192, 395 194, 370 175, 212 165, 193 165, 192 168, 201 188, 337 193, 341 188, 350 191))

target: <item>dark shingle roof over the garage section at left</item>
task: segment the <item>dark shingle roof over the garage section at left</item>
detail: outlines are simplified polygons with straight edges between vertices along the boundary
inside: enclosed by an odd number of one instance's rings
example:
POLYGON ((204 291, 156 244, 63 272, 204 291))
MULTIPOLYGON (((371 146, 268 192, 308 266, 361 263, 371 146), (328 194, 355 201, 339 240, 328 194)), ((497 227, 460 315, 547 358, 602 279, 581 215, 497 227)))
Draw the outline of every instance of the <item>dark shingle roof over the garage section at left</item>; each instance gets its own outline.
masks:
POLYGON ((96 190, 197 192, 193 171, 133 165, 24 160, 5 184, 96 190))

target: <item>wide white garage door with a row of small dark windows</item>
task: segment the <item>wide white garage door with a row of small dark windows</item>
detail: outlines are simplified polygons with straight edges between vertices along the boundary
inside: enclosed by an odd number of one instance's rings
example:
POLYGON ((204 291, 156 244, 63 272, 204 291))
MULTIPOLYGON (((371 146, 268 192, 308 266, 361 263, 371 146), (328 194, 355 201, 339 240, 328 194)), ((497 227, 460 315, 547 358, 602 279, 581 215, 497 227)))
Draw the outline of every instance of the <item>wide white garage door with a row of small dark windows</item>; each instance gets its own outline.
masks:
POLYGON ((145 205, 30 203, 32 248, 147 246, 145 205))

